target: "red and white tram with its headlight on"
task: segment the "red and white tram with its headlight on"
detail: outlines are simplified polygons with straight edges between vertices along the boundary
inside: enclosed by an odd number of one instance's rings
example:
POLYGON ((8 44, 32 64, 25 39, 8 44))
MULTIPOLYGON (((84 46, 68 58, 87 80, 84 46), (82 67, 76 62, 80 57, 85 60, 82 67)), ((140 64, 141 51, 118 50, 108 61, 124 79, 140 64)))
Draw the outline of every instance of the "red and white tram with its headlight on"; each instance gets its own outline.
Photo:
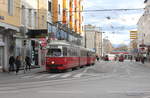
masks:
POLYGON ((47 47, 46 70, 67 70, 94 65, 95 52, 63 41, 53 41, 47 47))

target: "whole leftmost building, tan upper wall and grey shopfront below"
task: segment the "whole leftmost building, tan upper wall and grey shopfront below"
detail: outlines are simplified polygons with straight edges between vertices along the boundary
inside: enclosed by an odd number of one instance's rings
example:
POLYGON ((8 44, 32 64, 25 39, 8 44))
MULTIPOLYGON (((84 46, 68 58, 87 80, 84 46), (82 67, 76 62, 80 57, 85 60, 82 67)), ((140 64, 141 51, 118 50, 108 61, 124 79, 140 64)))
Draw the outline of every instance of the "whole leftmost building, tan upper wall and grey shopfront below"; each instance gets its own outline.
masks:
POLYGON ((0 70, 8 70, 20 26, 20 0, 0 0, 0 70))

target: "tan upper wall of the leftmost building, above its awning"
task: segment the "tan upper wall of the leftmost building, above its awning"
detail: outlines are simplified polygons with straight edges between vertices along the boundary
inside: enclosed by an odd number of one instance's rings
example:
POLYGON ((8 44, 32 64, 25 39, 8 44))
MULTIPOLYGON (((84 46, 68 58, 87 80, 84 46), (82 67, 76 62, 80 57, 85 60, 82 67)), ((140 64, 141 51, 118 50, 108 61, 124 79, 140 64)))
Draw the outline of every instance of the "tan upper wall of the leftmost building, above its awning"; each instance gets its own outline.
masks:
POLYGON ((0 1, 0 22, 14 27, 20 26, 20 0, 0 1))

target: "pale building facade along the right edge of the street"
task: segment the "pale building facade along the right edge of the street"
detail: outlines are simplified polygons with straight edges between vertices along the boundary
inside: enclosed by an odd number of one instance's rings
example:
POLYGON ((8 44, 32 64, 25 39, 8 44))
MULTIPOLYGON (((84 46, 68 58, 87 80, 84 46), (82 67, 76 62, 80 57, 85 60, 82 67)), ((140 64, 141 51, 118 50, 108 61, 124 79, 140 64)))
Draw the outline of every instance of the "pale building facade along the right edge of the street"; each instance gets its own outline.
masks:
POLYGON ((138 21, 138 49, 150 61, 150 0, 145 0, 144 14, 138 21))

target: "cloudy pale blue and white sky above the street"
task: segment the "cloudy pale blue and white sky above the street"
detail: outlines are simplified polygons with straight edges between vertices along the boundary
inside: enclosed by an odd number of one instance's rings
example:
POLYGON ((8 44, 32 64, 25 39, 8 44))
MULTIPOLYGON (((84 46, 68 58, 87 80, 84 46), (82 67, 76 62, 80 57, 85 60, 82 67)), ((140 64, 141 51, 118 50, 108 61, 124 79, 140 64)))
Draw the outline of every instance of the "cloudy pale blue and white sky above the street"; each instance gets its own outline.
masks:
MULTIPOLYGON (((144 0, 83 0, 84 10, 135 9, 144 8, 144 0)), ((137 22, 143 10, 84 12, 85 24, 101 27, 104 37, 113 44, 128 44, 129 31, 137 29, 137 22), (108 19, 110 17, 110 19, 108 19)))

